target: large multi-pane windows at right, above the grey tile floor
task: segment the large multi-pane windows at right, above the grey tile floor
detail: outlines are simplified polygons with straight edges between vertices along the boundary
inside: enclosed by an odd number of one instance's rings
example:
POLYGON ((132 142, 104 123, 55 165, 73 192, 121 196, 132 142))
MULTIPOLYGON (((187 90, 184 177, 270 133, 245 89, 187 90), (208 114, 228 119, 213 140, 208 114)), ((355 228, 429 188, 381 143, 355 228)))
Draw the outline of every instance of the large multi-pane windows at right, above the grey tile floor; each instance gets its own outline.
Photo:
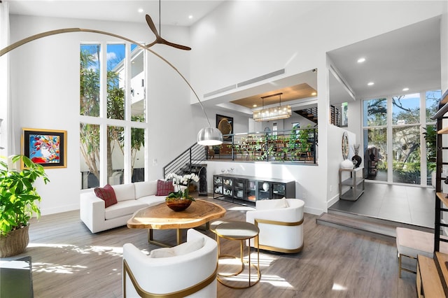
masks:
POLYGON ((363 101, 367 179, 430 184, 435 161, 435 127, 430 117, 441 95, 438 90, 363 101), (422 146, 423 136, 426 146, 422 146))

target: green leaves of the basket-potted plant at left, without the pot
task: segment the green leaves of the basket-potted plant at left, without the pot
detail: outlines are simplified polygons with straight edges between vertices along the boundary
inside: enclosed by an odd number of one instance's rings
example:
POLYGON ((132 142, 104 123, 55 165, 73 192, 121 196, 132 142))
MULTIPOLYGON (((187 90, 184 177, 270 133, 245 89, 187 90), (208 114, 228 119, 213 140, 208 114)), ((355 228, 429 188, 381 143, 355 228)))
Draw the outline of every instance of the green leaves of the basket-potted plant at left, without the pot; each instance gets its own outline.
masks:
POLYGON ((17 171, 9 169, 8 158, 1 157, 0 161, 0 234, 6 236, 15 229, 28 225, 29 219, 36 213, 41 215, 38 202, 41 196, 36 192, 34 182, 43 178, 46 184, 48 176, 40 164, 31 162, 26 156, 10 157, 11 162, 23 162, 25 169, 17 171))

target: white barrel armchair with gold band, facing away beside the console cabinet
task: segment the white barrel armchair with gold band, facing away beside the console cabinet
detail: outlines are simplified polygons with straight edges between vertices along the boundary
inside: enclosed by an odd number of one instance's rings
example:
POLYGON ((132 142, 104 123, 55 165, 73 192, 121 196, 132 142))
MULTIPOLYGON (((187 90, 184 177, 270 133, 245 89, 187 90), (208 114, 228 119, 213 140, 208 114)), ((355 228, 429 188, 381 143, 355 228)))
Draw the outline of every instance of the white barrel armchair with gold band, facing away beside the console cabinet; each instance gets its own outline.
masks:
MULTIPOLYGON (((255 210, 246 212, 246 222, 260 229, 260 249, 298 253, 303 248, 303 209, 301 199, 256 201, 255 210)), ((255 247, 254 239, 249 241, 255 247)))

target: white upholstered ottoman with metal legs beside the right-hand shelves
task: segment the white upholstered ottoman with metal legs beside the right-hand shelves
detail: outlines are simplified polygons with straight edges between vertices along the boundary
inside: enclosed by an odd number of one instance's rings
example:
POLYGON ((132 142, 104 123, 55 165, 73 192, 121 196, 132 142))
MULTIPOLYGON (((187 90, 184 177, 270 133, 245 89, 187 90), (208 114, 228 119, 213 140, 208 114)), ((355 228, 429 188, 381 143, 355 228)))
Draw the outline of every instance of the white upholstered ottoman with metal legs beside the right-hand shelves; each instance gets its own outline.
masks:
MULTIPOLYGON (((397 250, 398 250, 398 277, 401 278, 401 271, 416 273, 411 269, 402 268, 401 257, 417 258, 417 255, 424 255, 433 258, 434 254, 434 234, 419 231, 416 229, 407 229, 397 227, 397 250)), ((448 243, 440 242, 440 251, 448 252, 448 243)))

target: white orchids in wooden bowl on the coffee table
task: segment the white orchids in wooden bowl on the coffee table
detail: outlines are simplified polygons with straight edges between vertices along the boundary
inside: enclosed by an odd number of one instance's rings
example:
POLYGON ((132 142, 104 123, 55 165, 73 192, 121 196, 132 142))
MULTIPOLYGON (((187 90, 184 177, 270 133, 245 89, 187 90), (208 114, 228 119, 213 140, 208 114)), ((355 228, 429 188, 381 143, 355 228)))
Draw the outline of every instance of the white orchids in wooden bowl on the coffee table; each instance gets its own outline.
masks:
POLYGON ((173 211, 184 211, 188 208, 195 198, 190 196, 188 185, 190 183, 199 181, 199 176, 195 173, 187 175, 177 175, 176 173, 169 173, 165 180, 173 180, 173 192, 170 192, 165 199, 165 203, 173 211))

